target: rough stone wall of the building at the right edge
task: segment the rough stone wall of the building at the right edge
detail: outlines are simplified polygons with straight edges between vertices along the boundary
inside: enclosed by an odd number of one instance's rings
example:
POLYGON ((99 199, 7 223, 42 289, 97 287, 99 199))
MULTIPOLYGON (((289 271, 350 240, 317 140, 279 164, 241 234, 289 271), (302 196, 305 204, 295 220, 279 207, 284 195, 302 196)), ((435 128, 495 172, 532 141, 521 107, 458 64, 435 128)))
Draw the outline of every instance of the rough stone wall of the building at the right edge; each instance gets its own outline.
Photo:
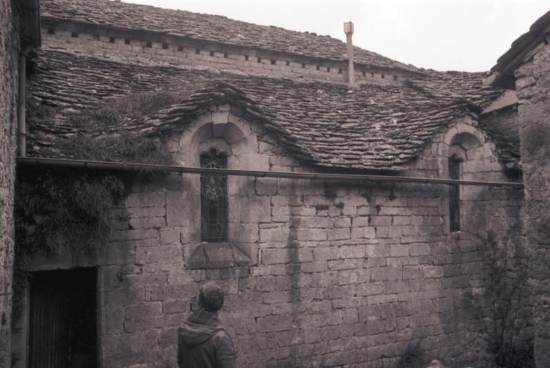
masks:
POLYGON ((550 45, 516 70, 527 241, 533 251, 535 358, 550 365, 550 45))

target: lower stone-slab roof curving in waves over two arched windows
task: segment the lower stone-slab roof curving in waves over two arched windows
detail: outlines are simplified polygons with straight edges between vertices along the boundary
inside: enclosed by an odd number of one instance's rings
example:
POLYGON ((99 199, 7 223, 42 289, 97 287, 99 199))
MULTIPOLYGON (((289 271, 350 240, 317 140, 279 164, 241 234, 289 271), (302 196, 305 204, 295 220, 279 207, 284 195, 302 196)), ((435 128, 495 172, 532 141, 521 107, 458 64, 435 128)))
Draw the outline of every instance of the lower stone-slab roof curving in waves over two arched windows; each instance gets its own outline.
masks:
MULTIPOLYGON (((59 144, 131 132, 159 136, 178 129, 212 104, 240 107, 283 147, 321 167, 401 170, 434 134, 463 113, 486 107, 501 90, 484 74, 430 72, 404 85, 296 81, 173 67, 146 67, 64 52, 41 52, 30 76, 30 155, 79 158, 59 144), (109 126, 78 121, 135 94, 170 96, 148 111, 126 111, 109 126), (75 118, 76 116, 76 118, 75 118)), ((113 158, 115 160, 115 158, 113 158)))

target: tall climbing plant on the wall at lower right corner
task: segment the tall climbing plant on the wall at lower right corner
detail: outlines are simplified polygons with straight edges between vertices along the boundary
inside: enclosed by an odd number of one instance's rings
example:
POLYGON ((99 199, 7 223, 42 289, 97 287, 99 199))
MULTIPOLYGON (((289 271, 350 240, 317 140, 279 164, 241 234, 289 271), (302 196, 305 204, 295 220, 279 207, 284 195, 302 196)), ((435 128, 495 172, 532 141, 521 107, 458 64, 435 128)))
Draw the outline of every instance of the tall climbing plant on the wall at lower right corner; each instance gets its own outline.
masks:
POLYGON ((498 239, 488 232, 482 239, 485 266, 485 318, 489 349, 503 368, 534 367, 533 341, 522 334, 529 318, 526 307, 527 255, 519 239, 498 239), (527 317, 527 318, 526 318, 527 317))

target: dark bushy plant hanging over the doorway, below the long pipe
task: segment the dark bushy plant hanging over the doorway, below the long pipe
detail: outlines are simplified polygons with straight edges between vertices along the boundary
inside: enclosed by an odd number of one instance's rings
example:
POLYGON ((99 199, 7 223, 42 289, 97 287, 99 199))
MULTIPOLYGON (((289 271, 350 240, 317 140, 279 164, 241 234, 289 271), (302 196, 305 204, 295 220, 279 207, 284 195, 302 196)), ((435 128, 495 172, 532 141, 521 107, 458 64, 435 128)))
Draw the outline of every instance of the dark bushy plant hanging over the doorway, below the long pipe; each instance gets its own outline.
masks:
POLYGON ((109 218, 124 197, 124 180, 112 173, 36 169, 19 173, 15 197, 17 252, 58 254, 66 247, 94 254, 107 240, 109 218))

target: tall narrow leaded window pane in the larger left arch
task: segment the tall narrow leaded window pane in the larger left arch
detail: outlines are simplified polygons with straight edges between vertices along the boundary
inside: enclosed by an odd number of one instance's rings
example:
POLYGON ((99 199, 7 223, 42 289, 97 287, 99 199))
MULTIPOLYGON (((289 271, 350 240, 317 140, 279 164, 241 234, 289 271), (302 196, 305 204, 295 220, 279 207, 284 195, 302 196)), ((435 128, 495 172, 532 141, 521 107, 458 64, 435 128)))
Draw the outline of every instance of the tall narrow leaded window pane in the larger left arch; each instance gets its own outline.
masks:
MULTIPOLYGON (((228 159, 217 149, 201 155, 201 167, 227 169, 228 159)), ((201 174, 201 241, 228 241, 228 176, 201 174)))

